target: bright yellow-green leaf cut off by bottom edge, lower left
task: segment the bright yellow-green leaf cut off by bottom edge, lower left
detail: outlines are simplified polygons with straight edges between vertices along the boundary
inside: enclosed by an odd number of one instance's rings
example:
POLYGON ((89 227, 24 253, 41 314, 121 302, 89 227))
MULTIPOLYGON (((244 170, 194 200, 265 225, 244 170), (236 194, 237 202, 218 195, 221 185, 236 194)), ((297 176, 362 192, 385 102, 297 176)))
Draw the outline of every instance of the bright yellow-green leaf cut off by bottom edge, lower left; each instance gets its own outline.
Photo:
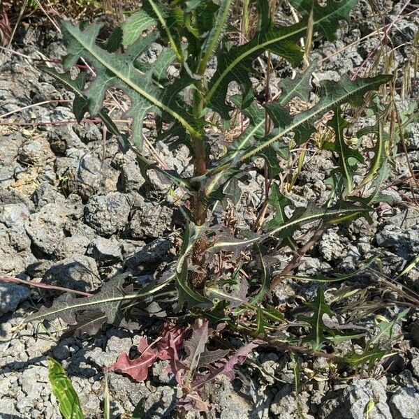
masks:
POLYGON ((78 394, 61 364, 48 358, 48 380, 52 394, 57 397, 59 411, 65 419, 84 419, 78 394))

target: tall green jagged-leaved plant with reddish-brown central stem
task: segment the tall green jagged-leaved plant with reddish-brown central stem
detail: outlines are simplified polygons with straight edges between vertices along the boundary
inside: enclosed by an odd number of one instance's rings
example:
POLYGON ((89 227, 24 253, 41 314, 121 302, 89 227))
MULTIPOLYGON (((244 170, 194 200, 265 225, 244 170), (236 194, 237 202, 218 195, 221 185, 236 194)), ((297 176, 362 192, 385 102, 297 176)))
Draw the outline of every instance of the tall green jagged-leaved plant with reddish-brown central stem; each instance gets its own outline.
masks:
MULTIPOLYGON (((131 307, 138 299, 172 292, 177 293, 179 307, 188 304, 196 310, 205 309, 213 319, 223 318, 220 310, 228 309, 229 315, 237 318, 244 310, 253 310, 258 318, 257 329, 244 330, 253 335, 263 334, 267 323, 284 321, 284 316, 260 305, 272 281, 264 255, 259 257, 260 249, 272 240, 278 248, 290 245, 297 257, 295 265, 298 256, 307 249, 307 244, 298 249, 293 240, 293 234, 302 225, 317 222, 314 238, 318 238, 329 226, 367 216, 372 205, 382 199, 379 191, 386 173, 387 154, 383 150, 388 135, 379 134, 383 133, 381 120, 378 117, 376 126, 369 130, 369 134, 378 134, 368 171, 367 183, 372 187, 363 194, 365 184, 356 184, 354 175, 364 159, 358 149, 346 144, 348 122, 344 118, 348 109, 363 105, 367 94, 371 96, 370 92, 377 91, 391 77, 378 75, 353 81, 343 77, 339 82, 321 82, 314 104, 292 115, 289 107, 295 98, 310 102, 315 90, 311 78, 316 63, 309 66, 305 63, 306 71, 293 80, 281 80, 281 93, 276 98, 258 103, 250 76, 254 73, 253 61, 270 52, 297 68, 304 57, 309 57, 301 47, 301 39, 316 34, 332 41, 339 22, 348 19, 356 0, 328 0, 326 6, 320 6, 316 0, 289 0, 298 22, 284 27, 274 23, 275 10, 270 5, 273 2, 246 2, 246 10, 253 10, 258 19, 251 31, 253 36, 244 43, 236 42, 229 30, 233 24, 233 0, 145 0, 142 3, 138 13, 117 28, 108 41, 99 39, 101 24, 62 22, 68 44, 68 54, 63 59, 67 72, 45 67, 44 70, 73 91, 73 111, 78 119, 85 112, 101 117, 117 135, 123 149, 135 150, 142 167, 159 170, 189 194, 190 205, 184 208, 187 217, 184 239, 175 273, 135 293, 124 292, 124 278, 119 277, 105 284, 103 291, 93 297, 61 297, 50 309, 43 309, 31 318, 61 316, 68 323, 81 321, 91 326, 95 321, 98 324, 115 321, 120 309, 131 307), (156 61, 150 64, 139 59, 154 42, 165 45, 156 61), (70 77, 69 71, 79 59, 94 68, 93 78, 88 80, 86 73, 80 73, 75 79, 70 77), (233 85, 238 86, 240 94, 230 93, 233 85), (103 101, 110 88, 121 89, 130 99, 126 112, 132 119, 129 138, 119 132, 104 108, 103 101), (246 121, 245 128, 233 141, 226 142, 223 156, 212 158, 209 135, 237 128, 234 126, 237 112, 246 121), (335 140, 325 142, 323 147, 339 161, 331 177, 333 191, 323 206, 309 204, 295 208, 290 216, 286 207, 292 209, 293 204, 277 182, 284 167, 281 160, 288 159, 290 153, 287 141, 292 137, 297 146, 309 142, 315 122, 326 112, 334 115, 329 126, 335 132, 335 140), (142 124, 150 115, 156 122, 159 140, 168 142, 170 147, 183 144, 189 148, 193 177, 186 179, 177 172, 163 170, 142 155, 142 124), (213 226, 212 213, 227 197, 233 196, 235 179, 246 175, 253 160, 259 157, 265 160, 267 184, 271 185, 266 200, 274 210, 273 215, 267 222, 264 216, 260 217, 257 233, 249 229, 233 235, 227 228, 213 226), (240 258, 240 252, 255 250, 260 260, 258 281, 251 279, 254 272, 243 275, 247 264, 240 258), (214 273, 208 260, 220 252, 233 255, 233 267, 230 264, 221 273, 214 273), (248 284, 245 277, 253 282, 248 284), (173 284, 175 287, 170 288, 173 284), (237 284, 235 294, 228 288, 231 284, 237 284), (100 315, 95 320, 97 313, 100 315)), ((294 265, 289 265, 284 274, 291 273, 294 265)), ((273 286, 279 277, 274 279, 273 286)))

